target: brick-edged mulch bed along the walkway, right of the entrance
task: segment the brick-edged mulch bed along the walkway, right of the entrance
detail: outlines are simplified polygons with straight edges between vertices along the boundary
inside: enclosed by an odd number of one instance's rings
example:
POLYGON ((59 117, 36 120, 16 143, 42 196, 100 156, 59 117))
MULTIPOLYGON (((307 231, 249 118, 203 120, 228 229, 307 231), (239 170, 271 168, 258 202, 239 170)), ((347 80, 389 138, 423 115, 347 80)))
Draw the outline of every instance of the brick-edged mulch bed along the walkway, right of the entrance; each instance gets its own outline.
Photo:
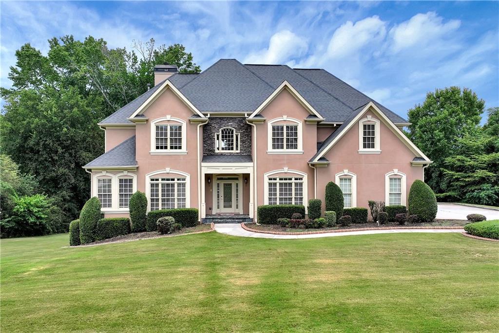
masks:
POLYGON ((321 229, 298 229, 298 228, 283 228, 277 224, 255 224, 244 223, 243 228, 249 231, 257 231, 262 233, 272 234, 311 234, 324 232, 342 232, 369 230, 369 229, 461 229, 465 224, 470 223, 468 220, 434 220, 430 223, 406 223, 400 225, 398 223, 387 223, 378 225, 378 223, 352 223, 349 226, 334 226, 321 229))

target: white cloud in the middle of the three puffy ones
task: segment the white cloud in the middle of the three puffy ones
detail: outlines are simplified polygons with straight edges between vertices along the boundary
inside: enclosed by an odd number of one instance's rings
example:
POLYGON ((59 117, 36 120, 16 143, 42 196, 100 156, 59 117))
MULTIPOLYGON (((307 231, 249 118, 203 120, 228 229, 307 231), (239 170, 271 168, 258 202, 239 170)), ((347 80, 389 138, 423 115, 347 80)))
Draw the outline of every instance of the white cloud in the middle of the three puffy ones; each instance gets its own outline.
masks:
POLYGON ((359 52, 365 45, 378 43, 385 38, 386 23, 378 16, 355 22, 347 21, 334 31, 327 53, 330 58, 345 58, 359 52))

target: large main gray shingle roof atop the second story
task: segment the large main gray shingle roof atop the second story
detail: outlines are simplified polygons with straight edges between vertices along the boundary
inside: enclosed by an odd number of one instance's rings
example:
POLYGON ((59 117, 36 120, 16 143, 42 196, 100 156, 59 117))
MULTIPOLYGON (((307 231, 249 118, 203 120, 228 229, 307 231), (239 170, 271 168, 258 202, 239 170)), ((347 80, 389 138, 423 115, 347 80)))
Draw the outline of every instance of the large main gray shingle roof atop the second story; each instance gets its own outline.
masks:
MULTIPOLYGON (((174 74, 169 80, 203 113, 253 112, 287 80, 326 122, 342 123, 371 99, 323 69, 292 69, 286 65, 243 65, 221 59, 200 74, 174 74)), ((128 117, 160 84, 125 105, 100 124, 133 124, 128 117)), ((405 119, 373 101, 394 123, 405 119)))

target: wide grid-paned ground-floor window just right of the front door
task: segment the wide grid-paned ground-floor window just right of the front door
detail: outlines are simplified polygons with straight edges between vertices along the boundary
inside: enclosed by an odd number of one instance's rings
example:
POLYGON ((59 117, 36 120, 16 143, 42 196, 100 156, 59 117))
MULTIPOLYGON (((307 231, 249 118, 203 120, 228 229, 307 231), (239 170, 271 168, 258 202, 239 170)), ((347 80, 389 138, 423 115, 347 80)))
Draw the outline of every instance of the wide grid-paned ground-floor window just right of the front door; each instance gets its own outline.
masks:
POLYGON ((303 204, 303 177, 268 178, 268 204, 303 204))

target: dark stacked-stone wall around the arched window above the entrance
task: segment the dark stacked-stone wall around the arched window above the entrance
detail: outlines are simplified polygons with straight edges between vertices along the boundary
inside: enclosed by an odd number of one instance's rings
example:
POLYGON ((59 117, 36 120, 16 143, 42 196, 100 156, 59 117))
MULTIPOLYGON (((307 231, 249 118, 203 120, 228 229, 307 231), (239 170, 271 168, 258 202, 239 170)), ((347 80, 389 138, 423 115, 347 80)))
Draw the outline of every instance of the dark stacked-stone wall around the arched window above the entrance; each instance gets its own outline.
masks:
POLYGON ((244 117, 210 117, 203 127, 203 155, 251 155, 251 126, 244 117), (215 133, 223 127, 232 127, 240 136, 240 153, 216 153, 215 133))

